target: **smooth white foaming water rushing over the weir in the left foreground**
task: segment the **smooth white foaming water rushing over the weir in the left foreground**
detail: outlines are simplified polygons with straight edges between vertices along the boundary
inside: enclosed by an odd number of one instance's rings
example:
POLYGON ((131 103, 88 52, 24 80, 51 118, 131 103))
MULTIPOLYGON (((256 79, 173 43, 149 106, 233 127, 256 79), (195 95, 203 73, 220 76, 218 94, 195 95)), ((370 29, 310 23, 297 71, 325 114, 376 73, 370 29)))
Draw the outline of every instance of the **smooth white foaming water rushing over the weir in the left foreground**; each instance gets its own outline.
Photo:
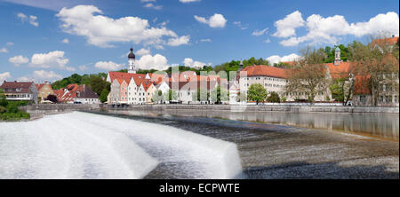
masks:
POLYGON ((171 162, 197 178, 242 170, 235 144, 156 123, 79 112, 0 123, 0 178, 141 178, 171 162))

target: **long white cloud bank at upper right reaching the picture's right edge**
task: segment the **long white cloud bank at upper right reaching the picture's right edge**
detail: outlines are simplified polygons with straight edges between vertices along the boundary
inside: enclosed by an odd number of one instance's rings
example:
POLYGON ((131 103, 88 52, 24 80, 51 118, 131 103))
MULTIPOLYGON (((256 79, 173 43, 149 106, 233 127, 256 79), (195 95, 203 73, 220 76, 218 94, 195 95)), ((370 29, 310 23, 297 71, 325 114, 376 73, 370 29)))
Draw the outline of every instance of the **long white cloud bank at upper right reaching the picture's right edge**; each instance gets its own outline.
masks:
POLYGON ((277 29, 276 35, 285 35, 280 37, 289 37, 280 42, 284 46, 295 46, 305 42, 338 43, 339 36, 343 35, 355 35, 360 37, 363 35, 380 34, 380 32, 399 35, 399 27, 393 25, 398 23, 399 18, 396 12, 380 13, 368 21, 350 24, 344 16, 334 15, 324 18, 321 15, 313 14, 309 16, 305 22, 308 31, 307 35, 298 37, 292 36, 295 35, 294 28, 292 28, 292 34, 283 34, 282 32, 284 31, 281 32, 277 29))

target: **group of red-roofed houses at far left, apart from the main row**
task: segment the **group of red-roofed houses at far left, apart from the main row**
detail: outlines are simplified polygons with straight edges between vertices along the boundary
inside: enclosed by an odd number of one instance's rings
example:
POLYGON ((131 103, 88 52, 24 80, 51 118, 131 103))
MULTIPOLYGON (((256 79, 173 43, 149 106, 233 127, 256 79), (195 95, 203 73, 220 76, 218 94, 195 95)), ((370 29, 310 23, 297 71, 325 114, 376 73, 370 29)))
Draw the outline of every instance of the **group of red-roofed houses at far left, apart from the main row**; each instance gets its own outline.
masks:
POLYGON ((52 103, 49 95, 57 98, 58 103, 100 104, 99 96, 86 85, 69 84, 67 88, 52 90, 50 83, 6 82, 0 86, 7 100, 30 101, 32 103, 52 103))

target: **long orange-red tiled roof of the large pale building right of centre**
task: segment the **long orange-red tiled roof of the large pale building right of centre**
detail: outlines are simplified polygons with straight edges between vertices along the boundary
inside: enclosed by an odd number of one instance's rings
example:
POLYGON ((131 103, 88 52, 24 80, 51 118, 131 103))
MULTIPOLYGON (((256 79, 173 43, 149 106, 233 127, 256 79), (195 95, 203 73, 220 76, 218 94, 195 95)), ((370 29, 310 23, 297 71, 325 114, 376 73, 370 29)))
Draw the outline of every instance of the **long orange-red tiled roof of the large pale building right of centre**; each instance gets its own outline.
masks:
POLYGON ((247 76, 272 76, 276 78, 287 78, 286 69, 281 67, 269 67, 264 65, 254 65, 244 67, 242 70, 247 72, 247 76))

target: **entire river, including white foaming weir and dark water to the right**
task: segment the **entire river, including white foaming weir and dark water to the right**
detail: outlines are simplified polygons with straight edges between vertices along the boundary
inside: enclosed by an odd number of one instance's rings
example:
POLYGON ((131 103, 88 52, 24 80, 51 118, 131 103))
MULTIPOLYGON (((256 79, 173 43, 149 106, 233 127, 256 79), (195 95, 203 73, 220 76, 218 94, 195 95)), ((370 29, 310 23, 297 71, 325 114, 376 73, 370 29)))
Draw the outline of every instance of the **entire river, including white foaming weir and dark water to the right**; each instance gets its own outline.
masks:
POLYGON ((398 115, 95 111, 0 123, 0 178, 399 178, 398 115))

